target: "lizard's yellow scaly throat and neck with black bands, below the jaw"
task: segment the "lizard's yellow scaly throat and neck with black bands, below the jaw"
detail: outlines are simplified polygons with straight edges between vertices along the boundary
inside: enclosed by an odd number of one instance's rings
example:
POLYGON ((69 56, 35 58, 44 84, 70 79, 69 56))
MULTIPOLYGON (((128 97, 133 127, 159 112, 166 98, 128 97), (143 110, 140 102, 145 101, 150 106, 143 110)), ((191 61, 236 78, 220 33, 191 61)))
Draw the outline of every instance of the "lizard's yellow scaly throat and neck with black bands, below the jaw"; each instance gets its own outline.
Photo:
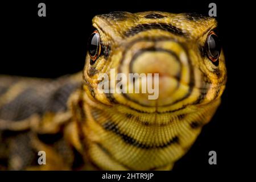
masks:
POLYGON ((72 109, 80 141, 76 146, 99 169, 171 169, 219 102, 174 113, 139 113, 119 104, 101 104, 80 90, 72 109))

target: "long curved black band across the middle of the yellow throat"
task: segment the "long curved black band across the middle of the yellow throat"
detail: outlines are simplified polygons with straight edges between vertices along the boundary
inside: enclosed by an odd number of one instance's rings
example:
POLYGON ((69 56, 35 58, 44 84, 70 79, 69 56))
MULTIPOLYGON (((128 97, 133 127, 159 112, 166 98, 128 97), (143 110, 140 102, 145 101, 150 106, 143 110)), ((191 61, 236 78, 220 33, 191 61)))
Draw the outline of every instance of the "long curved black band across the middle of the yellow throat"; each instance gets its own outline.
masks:
POLYGON ((164 147, 170 146, 173 143, 179 143, 179 138, 177 136, 175 136, 174 138, 169 140, 167 143, 164 143, 164 144, 161 144, 161 145, 148 145, 148 144, 138 142, 136 139, 134 139, 134 138, 132 138, 132 137, 126 135, 126 134, 123 134, 119 130, 117 124, 115 124, 113 122, 108 121, 108 122, 104 123, 103 127, 104 127, 105 130, 112 131, 115 134, 117 134, 119 137, 121 137, 123 139, 123 141, 125 143, 131 144, 131 145, 133 145, 135 147, 138 147, 138 148, 144 148, 144 149, 164 148, 164 147))

